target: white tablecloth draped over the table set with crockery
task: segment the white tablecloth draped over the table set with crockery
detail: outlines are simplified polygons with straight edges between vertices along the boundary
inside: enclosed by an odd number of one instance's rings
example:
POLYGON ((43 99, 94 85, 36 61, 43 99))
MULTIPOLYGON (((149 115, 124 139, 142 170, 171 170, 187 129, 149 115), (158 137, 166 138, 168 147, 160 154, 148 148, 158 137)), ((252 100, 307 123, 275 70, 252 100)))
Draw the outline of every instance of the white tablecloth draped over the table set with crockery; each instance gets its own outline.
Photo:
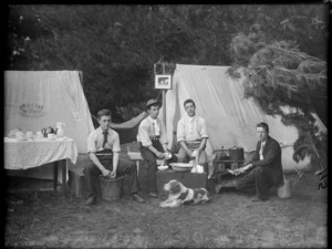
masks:
POLYGON ((28 169, 69 158, 76 164, 77 148, 69 137, 18 141, 4 137, 4 168, 28 169))

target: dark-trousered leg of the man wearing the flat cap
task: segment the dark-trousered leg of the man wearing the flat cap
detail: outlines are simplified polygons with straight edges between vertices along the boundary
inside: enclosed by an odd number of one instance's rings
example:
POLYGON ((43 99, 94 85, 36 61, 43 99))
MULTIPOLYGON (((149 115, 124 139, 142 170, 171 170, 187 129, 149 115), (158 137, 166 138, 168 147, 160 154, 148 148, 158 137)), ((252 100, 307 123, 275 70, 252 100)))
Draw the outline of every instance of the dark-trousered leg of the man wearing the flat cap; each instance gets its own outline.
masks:
POLYGON ((141 147, 141 155, 147 164, 147 189, 149 193, 157 193, 156 172, 157 160, 155 154, 145 147, 141 147))

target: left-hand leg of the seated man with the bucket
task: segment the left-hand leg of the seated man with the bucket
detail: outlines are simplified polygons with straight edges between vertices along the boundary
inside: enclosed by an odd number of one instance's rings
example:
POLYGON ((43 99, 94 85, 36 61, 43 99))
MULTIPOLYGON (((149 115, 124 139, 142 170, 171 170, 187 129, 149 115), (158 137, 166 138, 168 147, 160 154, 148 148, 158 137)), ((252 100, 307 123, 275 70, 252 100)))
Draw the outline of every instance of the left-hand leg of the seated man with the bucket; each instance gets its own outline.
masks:
POLYGON ((98 176, 102 174, 102 172, 95 166, 92 162, 87 164, 84 169, 84 181, 86 184, 87 188, 87 196, 91 197, 94 196, 97 197, 97 185, 100 184, 98 176))

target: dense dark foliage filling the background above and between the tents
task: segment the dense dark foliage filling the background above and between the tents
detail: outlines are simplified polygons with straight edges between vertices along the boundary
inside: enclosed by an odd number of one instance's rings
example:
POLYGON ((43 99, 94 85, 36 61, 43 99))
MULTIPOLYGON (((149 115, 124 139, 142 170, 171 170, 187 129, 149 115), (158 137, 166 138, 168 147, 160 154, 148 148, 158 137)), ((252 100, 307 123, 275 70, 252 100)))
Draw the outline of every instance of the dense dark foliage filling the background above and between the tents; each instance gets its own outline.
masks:
MULTIPOLYGON (((80 70, 91 112, 108 107, 123 121, 139 112, 129 103, 143 106, 158 96, 154 63, 239 64, 231 41, 255 24, 269 23, 259 30, 267 39, 291 39, 301 51, 324 60, 322 9, 321 4, 10 6, 7 70, 80 70)), ((246 52, 250 51, 241 51, 246 52)))

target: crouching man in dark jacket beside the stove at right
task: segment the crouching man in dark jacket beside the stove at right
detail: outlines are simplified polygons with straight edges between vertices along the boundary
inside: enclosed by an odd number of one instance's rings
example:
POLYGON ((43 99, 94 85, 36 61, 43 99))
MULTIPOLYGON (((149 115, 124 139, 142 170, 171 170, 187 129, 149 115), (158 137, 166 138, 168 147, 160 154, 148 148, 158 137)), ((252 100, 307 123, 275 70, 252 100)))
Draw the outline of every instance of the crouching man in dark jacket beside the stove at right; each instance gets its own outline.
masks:
POLYGON ((242 191, 256 191, 252 201, 260 201, 269 198, 272 186, 279 187, 283 184, 283 172, 281 147, 269 136, 268 124, 262 122, 256 127, 259 137, 256 152, 249 164, 235 170, 236 174, 245 173, 236 180, 235 187, 242 191))

